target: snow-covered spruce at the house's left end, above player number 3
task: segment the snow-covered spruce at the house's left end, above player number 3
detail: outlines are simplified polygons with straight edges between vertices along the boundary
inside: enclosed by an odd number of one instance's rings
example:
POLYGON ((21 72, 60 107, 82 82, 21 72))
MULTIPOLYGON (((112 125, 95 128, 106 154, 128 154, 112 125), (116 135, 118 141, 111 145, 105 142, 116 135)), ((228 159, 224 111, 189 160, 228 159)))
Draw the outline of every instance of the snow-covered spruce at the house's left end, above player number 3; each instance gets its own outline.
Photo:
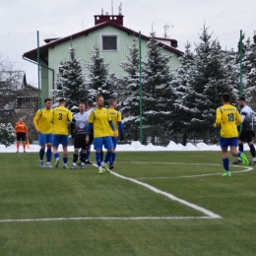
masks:
POLYGON ((57 74, 57 89, 53 91, 56 97, 64 97, 67 101, 67 107, 77 107, 80 101, 85 98, 85 92, 82 85, 85 81, 81 59, 76 57, 75 47, 69 48, 70 57, 61 63, 59 73, 57 74))

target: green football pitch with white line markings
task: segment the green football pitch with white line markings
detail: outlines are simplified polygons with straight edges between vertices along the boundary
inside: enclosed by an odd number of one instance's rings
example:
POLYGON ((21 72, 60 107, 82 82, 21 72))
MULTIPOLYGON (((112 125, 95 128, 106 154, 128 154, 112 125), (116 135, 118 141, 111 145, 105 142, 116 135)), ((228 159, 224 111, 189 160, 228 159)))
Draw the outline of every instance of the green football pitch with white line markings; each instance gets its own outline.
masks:
POLYGON ((222 177, 221 152, 120 152, 103 174, 0 164, 1 256, 256 255, 256 166, 222 177))

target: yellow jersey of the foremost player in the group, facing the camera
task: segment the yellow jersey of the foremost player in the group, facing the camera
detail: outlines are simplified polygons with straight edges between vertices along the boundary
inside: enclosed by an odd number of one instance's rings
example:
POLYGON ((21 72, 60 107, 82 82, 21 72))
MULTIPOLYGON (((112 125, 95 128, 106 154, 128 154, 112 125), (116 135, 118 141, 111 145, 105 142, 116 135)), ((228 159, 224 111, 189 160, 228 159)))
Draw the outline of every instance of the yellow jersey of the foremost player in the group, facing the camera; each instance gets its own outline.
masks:
POLYGON ((95 138, 114 136, 114 131, 109 125, 110 120, 111 116, 105 107, 96 108, 91 112, 88 121, 93 124, 95 138))

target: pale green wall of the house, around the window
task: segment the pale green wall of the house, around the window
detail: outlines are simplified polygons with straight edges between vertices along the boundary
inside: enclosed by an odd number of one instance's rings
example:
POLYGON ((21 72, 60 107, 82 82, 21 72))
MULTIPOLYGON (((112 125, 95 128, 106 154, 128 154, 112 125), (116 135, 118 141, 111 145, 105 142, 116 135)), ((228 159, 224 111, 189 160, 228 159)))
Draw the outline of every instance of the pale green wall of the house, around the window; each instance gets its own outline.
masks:
MULTIPOLYGON (((94 52, 94 45, 101 45, 101 34, 118 34, 119 43, 117 51, 101 51, 100 55, 104 57, 105 62, 109 63, 109 72, 114 72, 117 77, 125 75, 124 71, 120 67, 120 63, 127 61, 127 55, 129 55, 129 47, 132 45, 132 34, 119 31, 118 29, 108 26, 94 32, 90 32, 88 35, 81 35, 77 38, 71 38, 70 41, 65 41, 61 44, 55 45, 49 48, 48 51, 48 67, 54 70, 54 82, 58 73, 58 66, 60 62, 64 62, 69 58, 69 48, 71 44, 76 46, 76 57, 81 59, 81 66, 84 67, 85 63, 91 62, 91 55, 94 52)), ((142 60, 146 60, 146 43, 147 41, 142 39, 142 60)), ((139 43, 138 43, 139 45, 139 43)), ((162 49, 164 53, 169 51, 162 49)), ((178 67, 179 61, 176 54, 171 54, 170 67, 174 70, 178 67)), ((88 70, 84 67, 85 74, 88 74, 88 70)), ((50 92, 55 88, 55 84, 52 79, 53 73, 47 69, 41 69, 41 96, 52 96, 50 92)))

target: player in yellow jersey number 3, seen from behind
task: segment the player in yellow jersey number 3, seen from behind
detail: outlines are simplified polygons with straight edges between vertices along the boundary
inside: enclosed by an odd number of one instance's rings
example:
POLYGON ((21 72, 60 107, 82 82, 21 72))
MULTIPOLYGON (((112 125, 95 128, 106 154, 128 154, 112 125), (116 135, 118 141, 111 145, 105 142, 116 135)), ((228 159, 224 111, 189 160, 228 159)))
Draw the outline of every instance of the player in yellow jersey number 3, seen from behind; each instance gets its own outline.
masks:
POLYGON ((58 147, 62 144, 63 148, 63 168, 67 169, 68 162, 68 121, 72 121, 73 116, 71 111, 65 107, 66 101, 64 98, 59 99, 59 106, 53 108, 50 117, 52 123, 52 147, 55 158, 55 167, 59 165, 58 147))

